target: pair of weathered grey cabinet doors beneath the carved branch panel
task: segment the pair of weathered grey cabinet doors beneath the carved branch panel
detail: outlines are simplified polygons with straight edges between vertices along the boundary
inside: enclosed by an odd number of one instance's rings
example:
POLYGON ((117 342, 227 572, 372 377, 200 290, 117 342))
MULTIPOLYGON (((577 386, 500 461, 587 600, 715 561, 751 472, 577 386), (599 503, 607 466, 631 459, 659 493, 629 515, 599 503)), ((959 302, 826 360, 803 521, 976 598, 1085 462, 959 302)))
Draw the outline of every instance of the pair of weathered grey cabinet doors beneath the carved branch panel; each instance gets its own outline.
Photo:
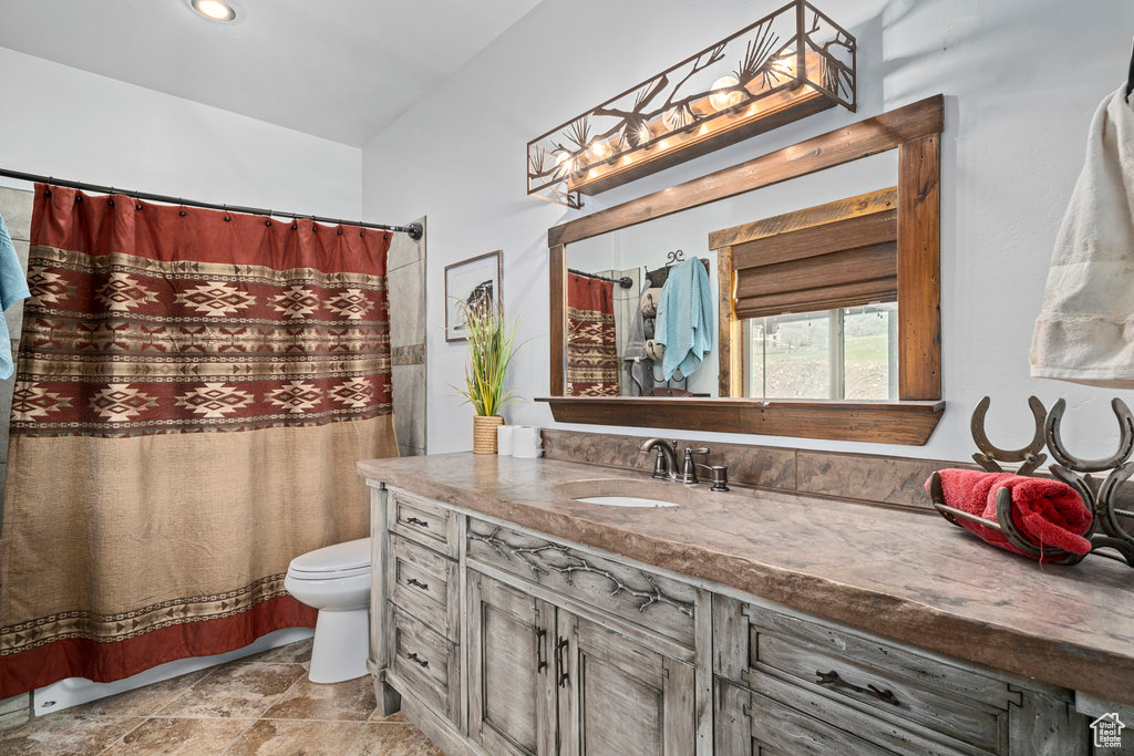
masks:
POLYGON ((490 754, 695 751, 693 665, 471 571, 468 736, 490 754))

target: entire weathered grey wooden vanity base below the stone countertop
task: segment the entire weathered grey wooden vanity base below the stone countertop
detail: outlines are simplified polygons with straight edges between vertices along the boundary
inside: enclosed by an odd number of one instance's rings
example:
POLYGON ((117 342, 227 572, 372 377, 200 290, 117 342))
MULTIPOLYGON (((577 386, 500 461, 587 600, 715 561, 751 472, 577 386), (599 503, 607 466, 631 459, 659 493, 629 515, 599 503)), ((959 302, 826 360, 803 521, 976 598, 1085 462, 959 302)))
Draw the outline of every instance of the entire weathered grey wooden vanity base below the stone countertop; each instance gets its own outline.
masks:
POLYGON ((373 494, 379 706, 447 753, 1088 753, 1069 691, 373 494))

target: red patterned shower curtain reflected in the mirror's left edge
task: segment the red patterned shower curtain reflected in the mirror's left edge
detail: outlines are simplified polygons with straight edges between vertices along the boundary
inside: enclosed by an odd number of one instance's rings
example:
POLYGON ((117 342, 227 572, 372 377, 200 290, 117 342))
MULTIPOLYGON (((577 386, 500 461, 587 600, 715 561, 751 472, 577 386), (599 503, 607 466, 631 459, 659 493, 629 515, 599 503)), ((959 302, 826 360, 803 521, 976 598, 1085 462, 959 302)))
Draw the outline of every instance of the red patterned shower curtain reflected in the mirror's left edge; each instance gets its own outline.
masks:
POLYGON ((567 396, 617 397, 615 284, 567 273, 567 396))

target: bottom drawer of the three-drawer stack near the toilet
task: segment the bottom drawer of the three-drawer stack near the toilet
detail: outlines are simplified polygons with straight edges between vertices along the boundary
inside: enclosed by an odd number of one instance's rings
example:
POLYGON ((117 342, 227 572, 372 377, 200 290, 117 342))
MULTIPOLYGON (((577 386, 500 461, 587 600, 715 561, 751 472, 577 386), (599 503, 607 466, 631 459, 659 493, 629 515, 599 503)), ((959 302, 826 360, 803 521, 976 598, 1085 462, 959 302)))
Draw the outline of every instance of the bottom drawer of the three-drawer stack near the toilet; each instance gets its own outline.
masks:
POLYGON ((456 721, 460 693, 457 644, 392 604, 388 608, 392 630, 388 636, 391 670, 406 682, 408 693, 456 721))

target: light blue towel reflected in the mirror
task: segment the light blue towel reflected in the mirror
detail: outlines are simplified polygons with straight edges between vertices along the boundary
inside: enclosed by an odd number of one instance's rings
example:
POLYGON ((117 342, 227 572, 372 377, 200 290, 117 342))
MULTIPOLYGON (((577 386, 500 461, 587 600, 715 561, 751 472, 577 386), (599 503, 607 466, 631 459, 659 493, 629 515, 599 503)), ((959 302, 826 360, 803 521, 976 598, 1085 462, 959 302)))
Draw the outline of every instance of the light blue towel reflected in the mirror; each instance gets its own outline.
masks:
POLYGON ((658 301, 658 330, 653 337, 666 345, 661 368, 667 381, 678 369, 688 377, 712 350, 712 303, 709 273, 700 260, 686 260, 669 271, 658 301))

